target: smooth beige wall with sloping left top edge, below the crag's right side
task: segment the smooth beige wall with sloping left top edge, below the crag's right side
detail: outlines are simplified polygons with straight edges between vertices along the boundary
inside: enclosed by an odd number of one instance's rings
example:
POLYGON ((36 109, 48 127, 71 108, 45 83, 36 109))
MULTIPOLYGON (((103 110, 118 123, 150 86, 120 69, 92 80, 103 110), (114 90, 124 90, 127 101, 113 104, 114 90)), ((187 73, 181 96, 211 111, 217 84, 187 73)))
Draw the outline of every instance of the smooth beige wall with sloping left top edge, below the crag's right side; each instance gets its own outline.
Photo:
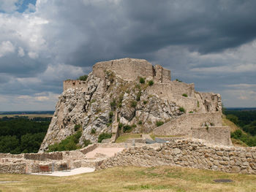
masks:
POLYGON ((153 130, 157 135, 173 135, 173 136, 192 136, 192 129, 202 127, 203 123, 209 123, 212 126, 222 126, 221 112, 206 113, 187 113, 176 119, 170 120, 162 126, 153 130))

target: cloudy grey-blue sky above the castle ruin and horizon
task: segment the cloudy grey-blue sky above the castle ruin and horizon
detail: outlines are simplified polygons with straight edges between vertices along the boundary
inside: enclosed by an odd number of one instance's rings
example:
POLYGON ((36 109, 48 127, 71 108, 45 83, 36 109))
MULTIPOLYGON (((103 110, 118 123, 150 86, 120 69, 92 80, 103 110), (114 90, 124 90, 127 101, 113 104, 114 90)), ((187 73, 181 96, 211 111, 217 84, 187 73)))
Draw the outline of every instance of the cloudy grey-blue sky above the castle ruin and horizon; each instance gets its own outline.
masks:
POLYGON ((145 58, 256 107, 255 0, 0 0, 0 111, 54 110, 97 61, 145 58))

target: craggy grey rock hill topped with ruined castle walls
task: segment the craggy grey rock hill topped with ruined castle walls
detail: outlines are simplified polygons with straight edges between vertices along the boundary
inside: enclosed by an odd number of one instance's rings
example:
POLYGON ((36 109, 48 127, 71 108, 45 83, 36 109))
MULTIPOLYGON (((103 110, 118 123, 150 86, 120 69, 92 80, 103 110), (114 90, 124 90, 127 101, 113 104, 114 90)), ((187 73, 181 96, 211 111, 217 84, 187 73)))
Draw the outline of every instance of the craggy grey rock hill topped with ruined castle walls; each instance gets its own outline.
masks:
POLYGON ((79 126, 82 145, 84 139, 97 142, 99 134, 111 133, 118 123, 121 134, 149 133, 157 122, 184 113, 221 111, 219 94, 198 93, 194 84, 171 81, 170 70, 162 66, 132 58, 99 62, 86 81, 64 81, 64 92, 39 152, 74 134, 79 126))

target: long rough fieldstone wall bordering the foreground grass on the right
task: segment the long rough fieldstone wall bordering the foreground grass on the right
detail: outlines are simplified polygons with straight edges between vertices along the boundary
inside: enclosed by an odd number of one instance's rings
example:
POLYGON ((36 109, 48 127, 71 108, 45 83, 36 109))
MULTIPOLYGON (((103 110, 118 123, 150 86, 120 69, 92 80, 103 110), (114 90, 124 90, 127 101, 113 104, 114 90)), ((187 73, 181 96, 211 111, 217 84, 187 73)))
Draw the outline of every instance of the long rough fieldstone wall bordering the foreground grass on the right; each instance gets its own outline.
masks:
POLYGON ((229 147, 211 145, 200 139, 180 139, 157 148, 129 147, 103 161, 97 169, 163 165, 256 174, 256 147, 229 147))

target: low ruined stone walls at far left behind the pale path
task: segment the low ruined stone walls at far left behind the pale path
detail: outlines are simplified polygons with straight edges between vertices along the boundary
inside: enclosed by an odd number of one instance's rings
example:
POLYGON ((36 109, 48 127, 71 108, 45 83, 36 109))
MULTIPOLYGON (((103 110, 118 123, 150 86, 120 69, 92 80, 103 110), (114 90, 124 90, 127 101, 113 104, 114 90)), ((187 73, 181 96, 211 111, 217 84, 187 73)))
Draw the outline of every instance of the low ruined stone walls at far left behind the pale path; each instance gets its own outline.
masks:
POLYGON ((98 144, 89 145, 80 150, 51 152, 51 153, 23 153, 13 155, 10 153, 0 153, 0 173, 25 174, 39 172, 39 166, 49 166, 55 171, 61 169, 61 165, 66 164, 72 169, 80 166, 95 166, 95 162, 87 161, 85 154, 94 150, 98 144))

